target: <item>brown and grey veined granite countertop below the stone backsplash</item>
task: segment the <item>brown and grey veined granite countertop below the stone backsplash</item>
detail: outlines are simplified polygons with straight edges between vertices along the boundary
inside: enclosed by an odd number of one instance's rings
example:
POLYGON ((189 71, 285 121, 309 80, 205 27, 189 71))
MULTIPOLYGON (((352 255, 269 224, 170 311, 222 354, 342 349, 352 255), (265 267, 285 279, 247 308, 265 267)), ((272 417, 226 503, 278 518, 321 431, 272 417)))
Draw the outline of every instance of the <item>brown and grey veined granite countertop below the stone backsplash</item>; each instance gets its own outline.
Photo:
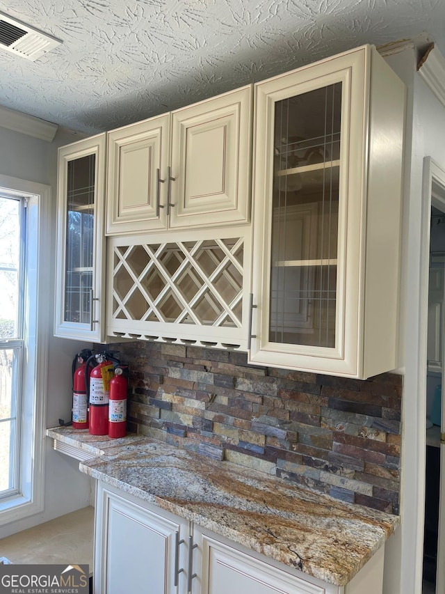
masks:
POLYGON ((337 586, 400 520, 147 437, 111 440, 70 428, 47 435, 96 455, 79 464, 89 476, 337 586))

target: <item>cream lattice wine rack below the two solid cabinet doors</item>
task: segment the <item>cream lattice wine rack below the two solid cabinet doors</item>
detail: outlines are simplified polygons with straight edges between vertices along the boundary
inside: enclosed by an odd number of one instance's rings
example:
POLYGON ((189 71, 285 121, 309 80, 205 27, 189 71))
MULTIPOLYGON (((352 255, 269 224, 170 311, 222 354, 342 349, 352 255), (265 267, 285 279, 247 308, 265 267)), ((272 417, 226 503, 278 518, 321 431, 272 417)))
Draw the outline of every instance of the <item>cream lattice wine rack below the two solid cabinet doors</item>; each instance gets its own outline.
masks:
MULTIPOLYGON (((213 233, 213 235, 216 235, 213 233)), ((246 237, 184 241, 172 234, 152 242, 113 238, 108 269, 108 334, 207 346, 245 347, 243 291, 246 237)), ((159 237, 159 239, 158 239, 159 237)), ((187 235, 186 237, 191 237, 187 235)), ((197 237, 197 233, 193 234, 197 237)), ((247 258, 249 256, 249 258, 247 258)))

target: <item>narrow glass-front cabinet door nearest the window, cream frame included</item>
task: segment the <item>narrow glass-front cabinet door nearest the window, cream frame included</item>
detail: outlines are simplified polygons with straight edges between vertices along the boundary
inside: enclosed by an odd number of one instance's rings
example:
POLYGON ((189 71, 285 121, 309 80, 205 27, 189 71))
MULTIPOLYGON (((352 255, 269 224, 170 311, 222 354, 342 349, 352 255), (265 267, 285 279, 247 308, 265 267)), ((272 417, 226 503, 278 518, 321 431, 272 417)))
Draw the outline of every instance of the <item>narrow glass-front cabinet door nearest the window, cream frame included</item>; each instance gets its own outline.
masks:
POLYGON ((104 339, 105 134, 59 149, 55 334, 104 339))

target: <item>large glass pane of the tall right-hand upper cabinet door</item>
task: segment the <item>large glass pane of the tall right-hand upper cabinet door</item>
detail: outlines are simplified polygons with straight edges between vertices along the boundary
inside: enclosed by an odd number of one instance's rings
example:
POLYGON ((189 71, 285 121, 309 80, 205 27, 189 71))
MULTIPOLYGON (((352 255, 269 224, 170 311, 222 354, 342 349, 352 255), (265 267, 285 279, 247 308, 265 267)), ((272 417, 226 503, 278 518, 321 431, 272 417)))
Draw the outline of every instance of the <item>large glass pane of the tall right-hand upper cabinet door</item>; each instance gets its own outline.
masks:
POLYGON ((334 347, 341 82, 275 103, 269 340, 334 347))

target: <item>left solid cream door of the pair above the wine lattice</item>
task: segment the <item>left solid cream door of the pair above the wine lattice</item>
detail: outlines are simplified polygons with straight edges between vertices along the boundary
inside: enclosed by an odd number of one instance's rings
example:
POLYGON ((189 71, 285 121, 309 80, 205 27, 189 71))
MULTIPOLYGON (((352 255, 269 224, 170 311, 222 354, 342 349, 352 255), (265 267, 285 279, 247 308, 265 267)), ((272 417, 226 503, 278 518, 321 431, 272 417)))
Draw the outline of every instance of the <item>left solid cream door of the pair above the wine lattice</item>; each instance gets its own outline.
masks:
POLYGON ((166 228, 169 130, 165 114, 108 134, 107 234, 166 228))

